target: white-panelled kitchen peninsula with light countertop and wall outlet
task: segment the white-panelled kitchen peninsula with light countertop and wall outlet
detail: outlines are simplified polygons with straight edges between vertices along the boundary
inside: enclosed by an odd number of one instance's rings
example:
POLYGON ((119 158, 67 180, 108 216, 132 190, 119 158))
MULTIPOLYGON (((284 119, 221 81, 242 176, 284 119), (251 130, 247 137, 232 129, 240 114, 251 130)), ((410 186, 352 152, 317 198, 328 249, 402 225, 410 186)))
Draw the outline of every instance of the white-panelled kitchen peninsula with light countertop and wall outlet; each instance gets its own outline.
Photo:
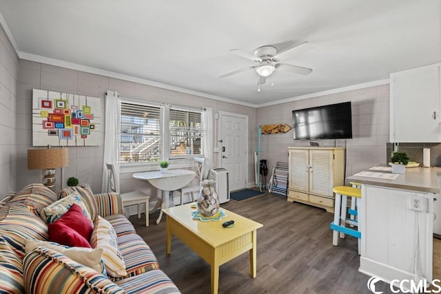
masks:
POLYGON ((433 201, 440 193, 440 171, 439 167, 409 167, 394 180, 355 175, 347 178, 362 184, 359 271, 389 283, 431 282, 433 201))

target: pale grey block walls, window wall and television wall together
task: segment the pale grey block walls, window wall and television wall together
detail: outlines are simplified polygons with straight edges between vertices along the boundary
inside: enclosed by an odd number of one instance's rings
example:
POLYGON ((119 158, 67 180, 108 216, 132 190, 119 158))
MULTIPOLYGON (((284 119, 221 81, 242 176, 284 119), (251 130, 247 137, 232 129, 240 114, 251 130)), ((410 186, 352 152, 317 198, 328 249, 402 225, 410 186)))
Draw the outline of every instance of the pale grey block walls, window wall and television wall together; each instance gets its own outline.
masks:
MULTIPOLYGON (((17 101, 17 114, 13 114, 17 120, 17 127, 14 127, 15 132, 12 133, 17 134, 15 142, 17 148, 14 150, 17 150, 17 160, 19 160, 17 162, 17 179, 19 180, 17 180, 17 187, 12 186, 14 189, 19 189, 29 182, 41 180, 39 171, 29 171, 25 162, 27 149, 32 145, 30 105, 33 88, 97 96, 103 99, 103 110, 105 92, 107 89, 111 89, 116 90, 123 96, 141 98, 146 101, 167 102, 174 105, 193 107, 213 107, 214 113, 226 111, 245 114, 249 116, 249 171, 247 176, 247 182, 249 183, 254 182, 253 152, 257 147, 257 125, 282 122, 291 125, 291 111, 293 109, 352 101, 354 138, 346 142, 345 140, 321 140, 320 145, 347 147, 347 174, 353 174, 369 165, 385 161, 385 143, 389 138, 389 85, 329 94, 254 109, 116 78, 76 72, 23 60, 19 61, 18 78, 17 99, 15 99, 17 101)), ((217 121, 215 120, 214 123, 214 127, 217 129, 217 121)), ((10 129, 0 125, 0 132, 10 134, 10 129)), ((264 136, 261 158, 268 160, 271 169, 274 162, 287 161, 287 147, 307 145, 309 145, 309 141, 294 141, 291 132, 264 136)), ((214 146, 216 147, 216 142, 214 142, 214 146)), ((70 165, 63 169, 63 180, 70 176, 76 176, 80 182, 89 182, 92 189, 101 191, 103 147, 69 147, 69 149, 70 165)), ((217 165, 218 154, 214 154, 213 166, 216 167, 217 165)), ((61 171, 57 171, 57 174, 60 175, 61 171)), ((147 191, 151 189, 144 182, 133 180, 130 176, 121 176, 121 179, 121 191, 134 188, 147 191)), ((56 189, 59 189, 60 186, 59 182, 56 189)))

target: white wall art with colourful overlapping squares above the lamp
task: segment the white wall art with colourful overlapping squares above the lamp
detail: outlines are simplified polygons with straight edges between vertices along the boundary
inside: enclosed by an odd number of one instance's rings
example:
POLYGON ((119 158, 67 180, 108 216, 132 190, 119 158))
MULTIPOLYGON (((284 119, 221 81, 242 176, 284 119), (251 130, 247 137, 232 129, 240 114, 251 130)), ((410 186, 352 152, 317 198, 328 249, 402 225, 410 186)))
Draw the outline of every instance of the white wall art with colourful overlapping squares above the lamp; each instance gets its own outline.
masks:
POLYGON ((33 146, 100 145, 100 127, 99 98, 33 90, 33 146))

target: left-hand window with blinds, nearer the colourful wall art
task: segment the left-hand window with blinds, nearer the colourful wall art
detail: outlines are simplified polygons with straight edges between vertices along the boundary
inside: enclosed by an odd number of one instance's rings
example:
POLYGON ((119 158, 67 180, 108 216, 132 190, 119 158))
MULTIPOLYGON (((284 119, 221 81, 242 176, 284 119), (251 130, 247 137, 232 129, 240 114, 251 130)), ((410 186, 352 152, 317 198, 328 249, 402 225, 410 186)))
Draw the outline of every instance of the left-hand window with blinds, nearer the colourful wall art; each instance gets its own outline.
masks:
POLYGON ((163 109, 121 101, 119 161, 149 162, 161 159, 163 109))

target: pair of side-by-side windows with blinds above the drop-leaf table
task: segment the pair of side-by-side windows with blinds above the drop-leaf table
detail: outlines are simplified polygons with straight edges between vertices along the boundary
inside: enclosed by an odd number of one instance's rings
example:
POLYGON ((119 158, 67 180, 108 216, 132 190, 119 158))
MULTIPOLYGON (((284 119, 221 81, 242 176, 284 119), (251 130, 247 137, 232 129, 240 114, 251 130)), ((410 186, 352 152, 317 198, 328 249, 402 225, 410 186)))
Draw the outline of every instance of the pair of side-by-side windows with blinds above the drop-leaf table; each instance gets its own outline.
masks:
POLYGON ((203 111, 121 101, 119 138, 121 163, 200 156, 204 144, 203 111), (168 118, 165 125, 164 117, 168 118))

